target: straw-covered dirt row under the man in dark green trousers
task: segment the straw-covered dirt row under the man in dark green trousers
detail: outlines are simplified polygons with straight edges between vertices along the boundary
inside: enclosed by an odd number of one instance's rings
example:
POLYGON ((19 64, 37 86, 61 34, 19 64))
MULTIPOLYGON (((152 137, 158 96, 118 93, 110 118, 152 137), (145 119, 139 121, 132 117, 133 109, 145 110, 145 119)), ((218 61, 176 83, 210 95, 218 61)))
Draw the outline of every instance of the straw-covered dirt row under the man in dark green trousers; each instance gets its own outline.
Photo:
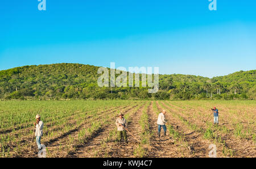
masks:
POLYGON ((127 124, 127 128, 129 132, 127 133, 129 143, 123 142, 120 144, 114 138, 108 140, 109 133, 113 130, 116 130, 115 119, 117 117, 113 117, 110 120, 110 123, 102 127, 101 131, 94 135, 92 140, 87 142, 85 145, 80 147, 73 157, 134 157, 134 149, 137 146, 138 142, 133 138, 138 138, 138 120, 141 116, 143 105, 137 110, 130 111, 126 113, 130 113, 130 119, 127 124))

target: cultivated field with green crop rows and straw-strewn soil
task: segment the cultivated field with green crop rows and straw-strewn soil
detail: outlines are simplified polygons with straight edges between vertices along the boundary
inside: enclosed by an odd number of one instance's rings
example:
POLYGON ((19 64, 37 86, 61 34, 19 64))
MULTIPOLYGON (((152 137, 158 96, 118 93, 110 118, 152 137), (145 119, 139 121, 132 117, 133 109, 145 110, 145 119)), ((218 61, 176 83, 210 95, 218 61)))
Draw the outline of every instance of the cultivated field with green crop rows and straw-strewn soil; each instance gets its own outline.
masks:
POLYGON ((211 144, 217 157, 256 157, 255 100, 2 101, 0 157, 38 157, 35 138, 30 152, 38 113, 47 157, 208 157, 211 144), (213 126, 213 106, 219 126, 213 126), (167 136, 159 139, 156 120, 162 109, 167 136), (131 132, 122 146, 116 141, 118 112, 125 114, 131 132))

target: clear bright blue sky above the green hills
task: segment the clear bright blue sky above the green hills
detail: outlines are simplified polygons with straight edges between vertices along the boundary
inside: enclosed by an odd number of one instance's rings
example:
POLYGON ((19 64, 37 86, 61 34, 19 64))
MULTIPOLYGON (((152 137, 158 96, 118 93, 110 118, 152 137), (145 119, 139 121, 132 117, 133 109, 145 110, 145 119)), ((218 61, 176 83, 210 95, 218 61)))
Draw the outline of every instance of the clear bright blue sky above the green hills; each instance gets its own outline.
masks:
POLYGON ((159 66, 161 74, 256 68, 256 1, 3 0, 0 70, 61 62, 159 66))

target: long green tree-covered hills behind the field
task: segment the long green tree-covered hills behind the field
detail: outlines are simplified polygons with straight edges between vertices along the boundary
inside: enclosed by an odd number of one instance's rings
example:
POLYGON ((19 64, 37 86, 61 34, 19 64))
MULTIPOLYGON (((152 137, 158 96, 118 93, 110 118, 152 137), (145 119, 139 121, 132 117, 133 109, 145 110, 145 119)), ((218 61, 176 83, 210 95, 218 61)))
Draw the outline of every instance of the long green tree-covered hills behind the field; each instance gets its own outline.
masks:
POLYGON ((159 91, 147 87, 98 87, 98 67, 52 64, 0 71, 1 99, 256 99, 256 70, 212 79, 159 75, 159 91))

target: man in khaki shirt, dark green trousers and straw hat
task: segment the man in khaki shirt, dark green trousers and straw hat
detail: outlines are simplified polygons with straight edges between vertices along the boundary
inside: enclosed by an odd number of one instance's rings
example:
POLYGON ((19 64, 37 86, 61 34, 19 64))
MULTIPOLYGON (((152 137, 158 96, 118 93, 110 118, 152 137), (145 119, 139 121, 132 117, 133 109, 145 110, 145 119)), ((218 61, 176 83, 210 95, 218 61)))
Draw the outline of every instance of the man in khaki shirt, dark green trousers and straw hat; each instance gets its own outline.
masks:
POLYGON ((123 139, 125 140, 125 142, 128 143, 126 130, 123 129, 123 127, 127 128, 127 125, 126 125, 126 120, 123 117, 122 113, 120 113, 118 115, 118 118, 115 121, 115 125, 117 125, 117 139, 118 139, 118 141, 120 143, 122 143, 122 136, 123 136, 123 139))

